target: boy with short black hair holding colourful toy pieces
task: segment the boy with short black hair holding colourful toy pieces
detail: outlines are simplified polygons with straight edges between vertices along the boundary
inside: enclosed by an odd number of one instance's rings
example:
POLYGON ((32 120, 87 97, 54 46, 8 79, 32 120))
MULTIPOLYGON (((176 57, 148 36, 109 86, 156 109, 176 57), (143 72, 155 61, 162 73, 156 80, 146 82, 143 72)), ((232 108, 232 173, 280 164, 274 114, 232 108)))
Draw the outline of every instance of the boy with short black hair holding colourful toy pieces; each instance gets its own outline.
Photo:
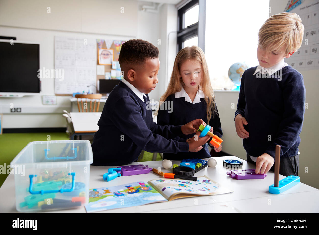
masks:
POLYGON ((147 108, 148 93, 158 82, 159 50, 151 43, 132 39, 121 47, 119 63, 124 79, 110 93, 92 142, 95 166, 120 166, 136 161, 142 150, 157 153, 197 152, 209 136, 188 143, 172 140, 196 132, 203 120, 183 126, 160 126, 147 108))

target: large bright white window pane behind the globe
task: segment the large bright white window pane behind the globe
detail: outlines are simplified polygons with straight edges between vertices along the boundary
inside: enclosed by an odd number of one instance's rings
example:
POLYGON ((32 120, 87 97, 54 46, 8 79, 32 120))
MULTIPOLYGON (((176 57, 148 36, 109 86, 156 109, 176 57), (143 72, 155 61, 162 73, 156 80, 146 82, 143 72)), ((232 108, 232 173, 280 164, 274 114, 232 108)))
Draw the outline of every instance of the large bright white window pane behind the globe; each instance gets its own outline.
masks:
POLYGON ((228 69, 258 65, 258 31, 269 17, 269 0, 206 2, 205 58, 214 90, 231 90, 228 69))

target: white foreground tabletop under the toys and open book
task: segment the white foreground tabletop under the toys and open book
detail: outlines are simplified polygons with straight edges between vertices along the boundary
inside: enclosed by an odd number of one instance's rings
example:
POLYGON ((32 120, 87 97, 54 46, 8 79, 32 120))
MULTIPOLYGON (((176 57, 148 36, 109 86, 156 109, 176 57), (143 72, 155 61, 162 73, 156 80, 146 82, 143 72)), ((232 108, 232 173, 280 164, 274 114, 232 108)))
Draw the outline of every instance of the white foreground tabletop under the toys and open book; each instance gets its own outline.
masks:
MULTIPOLYGON (((225 159, 235 159, 243 161, 243 169, 255 168, 253 164, 237 158, 235 156, 215 157, 217 166, 215 168, 206 167, 195 174, 195 176, 208 176, 211 180, 218 182, 222 186, 231 189, 233 193, 192 197, 172 200, 169 202, 152 203, 138 207, 120 208, 95 213, 135 213, 135 212, 177 212, 177 213, 318 213, 319 212, 319 190, 309 185, 299 183, 287 191, 274 195, 268 192, 269 185, 273 184, 274 173, 268 172, 264 179, 236 180, 226 175, 222 161, 225 159)), ((178 164, 179 161, 172 161, 178 164)), ((132 163, 130 165, 137 163, 132 163)), ((148 165, 152 168, 161 167, 163 172, 171 172, 162 168, 161 161, 143 161, 138 164, 148 165)), ((103 186, 115 186, 129 184, 137 181, 149 181, 158 179, 160 176, 153 172, 135 176, 121 176, 110 182, 102 179, 102 175, 109 167, 91 166, 90 188, 103 186)), ((279 180, 285 178, 280 175, 279 180)), ((14 176, 9 174, 4 184, 0 188, 0 211, 17 212, 15 206, 14 176), (8 197, 8 192, 10 197, 8 197)), ((50 213, 85 213, 85 208, 66 209, 51 211, 50 213)), ((47 212, 48 213, 48 212, 47 212)))

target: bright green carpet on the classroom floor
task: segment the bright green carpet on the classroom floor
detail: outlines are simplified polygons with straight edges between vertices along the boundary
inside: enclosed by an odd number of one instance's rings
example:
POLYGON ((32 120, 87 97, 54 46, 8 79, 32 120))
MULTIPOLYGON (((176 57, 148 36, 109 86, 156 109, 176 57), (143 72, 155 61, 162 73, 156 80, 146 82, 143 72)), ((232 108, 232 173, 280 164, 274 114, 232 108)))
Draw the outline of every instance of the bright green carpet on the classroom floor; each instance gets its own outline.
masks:
MULTIPOLYGON (((69 136, 65 132, 54 133, 5 133, 0 135, 0 165, 4 163, 8 166, 18 153, 32 141, 47 141, 47 135, 50 140, 68 140, 69 136)), ((142 161, 152 161, 153 153, 144 153, 142 161)), ((161 160, 159 154, 157 159, 161 160)), ((4 169, 6 173, 6 169, 4 169)), ((8 174, 0 174, 0 187, 4 183, 8 174)))

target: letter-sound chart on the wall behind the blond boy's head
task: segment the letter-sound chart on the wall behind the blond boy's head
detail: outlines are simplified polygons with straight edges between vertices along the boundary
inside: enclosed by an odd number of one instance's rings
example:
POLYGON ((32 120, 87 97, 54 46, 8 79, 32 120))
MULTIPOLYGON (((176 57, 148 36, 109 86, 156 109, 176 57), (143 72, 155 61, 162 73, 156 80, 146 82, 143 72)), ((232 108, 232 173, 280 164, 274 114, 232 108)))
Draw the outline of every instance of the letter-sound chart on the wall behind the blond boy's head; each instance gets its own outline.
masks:
POLYGON ((285 62, 295 69, 310 70, 319 68, 319 1, 289 0, 285 12, 297 13, 305 27, 300 49, 285 62))

